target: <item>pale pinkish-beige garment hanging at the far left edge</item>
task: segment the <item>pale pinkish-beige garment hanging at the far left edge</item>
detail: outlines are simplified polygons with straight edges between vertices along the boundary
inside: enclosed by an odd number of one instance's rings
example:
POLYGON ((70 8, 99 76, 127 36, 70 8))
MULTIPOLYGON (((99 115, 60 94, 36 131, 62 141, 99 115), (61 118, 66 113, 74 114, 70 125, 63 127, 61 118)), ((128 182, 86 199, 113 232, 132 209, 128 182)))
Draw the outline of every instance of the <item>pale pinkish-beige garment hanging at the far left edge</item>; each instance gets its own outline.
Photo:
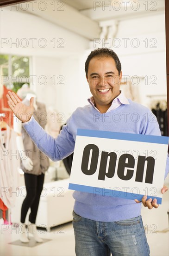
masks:
POLYGON ((19 166, 16 133, 7 125, 0 131, 0 198, 7 208, 14 206, 18 194, 19 166))

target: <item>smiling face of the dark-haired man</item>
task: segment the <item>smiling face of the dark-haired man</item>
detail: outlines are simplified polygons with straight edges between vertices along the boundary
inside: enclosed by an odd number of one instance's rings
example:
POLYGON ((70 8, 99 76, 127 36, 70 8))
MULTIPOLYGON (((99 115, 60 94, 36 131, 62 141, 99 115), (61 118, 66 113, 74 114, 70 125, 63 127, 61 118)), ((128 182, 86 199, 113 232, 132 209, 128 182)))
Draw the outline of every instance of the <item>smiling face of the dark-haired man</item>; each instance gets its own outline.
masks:
POLYGON ((89 62, 87 81, 94 96, 95 106, 101 113, 107 110, 113 99, 120 94, 121 78, 122 72, 119 75, 113 58, 94 57, 89 62))

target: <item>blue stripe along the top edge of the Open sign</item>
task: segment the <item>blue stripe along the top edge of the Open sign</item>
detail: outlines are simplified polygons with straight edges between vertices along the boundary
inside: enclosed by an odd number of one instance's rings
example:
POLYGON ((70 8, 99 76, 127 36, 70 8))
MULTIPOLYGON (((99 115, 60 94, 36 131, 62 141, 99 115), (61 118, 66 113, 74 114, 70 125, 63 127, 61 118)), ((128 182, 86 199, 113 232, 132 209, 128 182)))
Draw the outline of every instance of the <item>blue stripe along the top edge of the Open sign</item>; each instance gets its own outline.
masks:
POLYGON ((77 135, 97 138, 107 138, 124 141, 141 141, 150 142, 157 144, 169 143, 169 137, 167 136, 156 136, 156 135, 143 135, 143 134, 132 134, 132 133, 116 133, 107 131, 96 131, 87 129, 77 129, 77 135))

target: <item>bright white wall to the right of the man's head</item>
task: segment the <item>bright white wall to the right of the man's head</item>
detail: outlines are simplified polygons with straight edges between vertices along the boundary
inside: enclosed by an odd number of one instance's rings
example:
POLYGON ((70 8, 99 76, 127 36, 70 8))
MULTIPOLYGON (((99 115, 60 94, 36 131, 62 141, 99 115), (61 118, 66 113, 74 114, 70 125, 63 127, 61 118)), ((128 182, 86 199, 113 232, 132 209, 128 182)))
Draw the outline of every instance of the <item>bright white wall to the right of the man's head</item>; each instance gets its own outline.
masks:
POLYGON ((123 63, 123 73, 129 74, 130 76, 148 76, 148 85, 146 85, 145 79, 138 84, 140 91, 145 96, 150 94, 166 94, 164 13, 134 20, 121 21, 117 37, 130 38, 128 41, 129 47, 118 49, 123 63), (139 40, 140 45, 138 48, 131 47, 130 43, 134 38, 139 40), (155 79, 156 81, 154 81, 155 79))

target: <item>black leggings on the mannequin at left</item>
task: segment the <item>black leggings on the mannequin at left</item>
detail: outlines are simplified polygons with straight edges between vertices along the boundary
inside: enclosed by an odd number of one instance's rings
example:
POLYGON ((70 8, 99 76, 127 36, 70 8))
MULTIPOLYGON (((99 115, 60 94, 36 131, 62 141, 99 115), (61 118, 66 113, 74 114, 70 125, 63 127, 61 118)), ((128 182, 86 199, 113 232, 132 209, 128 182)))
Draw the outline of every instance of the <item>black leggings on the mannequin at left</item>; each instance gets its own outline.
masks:
POLYGON ((29 208, 31 208, 29 221, 35 224, 40 195, 41 195, 43 184, 44 184, 44 174, 33 175, 33 174, 25 173, 24 177, 25 177, 26 197, 24 202, 22 203, 20 222, 25 223, 26 214, 29 208))

